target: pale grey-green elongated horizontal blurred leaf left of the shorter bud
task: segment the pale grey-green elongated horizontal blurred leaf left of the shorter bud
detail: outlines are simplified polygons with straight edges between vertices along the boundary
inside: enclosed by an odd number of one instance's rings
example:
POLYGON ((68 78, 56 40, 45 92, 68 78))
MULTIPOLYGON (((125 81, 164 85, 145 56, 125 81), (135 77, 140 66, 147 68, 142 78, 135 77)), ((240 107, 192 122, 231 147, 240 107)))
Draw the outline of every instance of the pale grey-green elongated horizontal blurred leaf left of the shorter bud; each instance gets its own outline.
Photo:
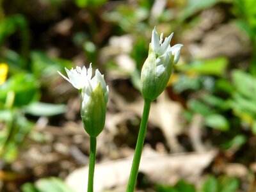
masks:
POLYGON ((65 113, 66 106, 63 104, 48 104, 44 102, 33 102, 24 108, 25 113, 35 116, 52 116, 65 113))

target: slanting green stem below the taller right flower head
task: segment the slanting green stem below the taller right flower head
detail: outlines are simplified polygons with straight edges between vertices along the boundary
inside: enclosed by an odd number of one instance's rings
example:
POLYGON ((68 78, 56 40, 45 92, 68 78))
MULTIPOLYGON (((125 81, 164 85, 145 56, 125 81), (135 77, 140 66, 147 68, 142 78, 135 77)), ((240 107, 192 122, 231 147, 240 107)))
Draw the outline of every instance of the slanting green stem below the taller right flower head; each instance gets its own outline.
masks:
POLYGON ((133 192, 134 188, 135 188, 136 179, 138 176, 138 171, 139 171, 139 166, 140 166, 141 153, 142 153, 145 135, 146 135, 146 131, 147 131, 150 105, 151 105, 151 101, 145 99, 143 115, 142 115, 141 124, 140 124, 140 131, 138 134, 137 144, 136 144, 136 148, 135 148, 135 152, 134 152, 134 157, 132 160, 132 168, 131 168, 131 173, 130 173, 128 185, 126 188, 126 192, 133 192))

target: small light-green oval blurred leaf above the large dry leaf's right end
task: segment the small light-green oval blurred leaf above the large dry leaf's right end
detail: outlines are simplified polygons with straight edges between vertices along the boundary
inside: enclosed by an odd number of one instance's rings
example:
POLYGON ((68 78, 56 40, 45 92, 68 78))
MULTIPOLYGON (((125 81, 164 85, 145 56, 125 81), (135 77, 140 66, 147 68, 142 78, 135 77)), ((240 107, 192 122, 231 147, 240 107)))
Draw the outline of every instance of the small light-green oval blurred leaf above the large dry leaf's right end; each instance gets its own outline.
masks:
POLYGON ((205 125, 218 129, 220 131, 228 131, 229 123, 225 116, 220 114, 211 114, 205 117, 205 125))

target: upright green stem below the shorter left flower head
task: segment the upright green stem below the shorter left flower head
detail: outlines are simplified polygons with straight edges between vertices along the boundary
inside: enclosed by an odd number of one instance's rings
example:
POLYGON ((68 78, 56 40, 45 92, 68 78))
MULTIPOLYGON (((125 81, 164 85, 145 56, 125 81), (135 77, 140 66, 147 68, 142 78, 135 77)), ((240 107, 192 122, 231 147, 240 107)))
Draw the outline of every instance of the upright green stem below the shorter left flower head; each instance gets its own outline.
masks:
POLYGON ((89 176, 87 192, 93 192, 93 177, 95 168, 95 154, 96 154, 96 138, 90 137, 90 162, 89 162, 89 176))

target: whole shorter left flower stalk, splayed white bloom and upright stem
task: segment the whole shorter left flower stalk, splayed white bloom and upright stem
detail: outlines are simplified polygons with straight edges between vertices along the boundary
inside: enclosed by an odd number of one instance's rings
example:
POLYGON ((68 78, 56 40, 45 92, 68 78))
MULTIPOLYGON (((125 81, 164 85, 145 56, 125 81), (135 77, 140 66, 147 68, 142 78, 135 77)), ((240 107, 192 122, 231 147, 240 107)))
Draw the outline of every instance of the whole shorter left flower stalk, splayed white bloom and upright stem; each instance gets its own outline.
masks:
POLYGON ((58 73, 80 92, 81 118, 84 130, 90 136, 88 192, 93 192, 97 136, 102 132, 105 125, 109 90, 104 76, 100 74, 98 69, 95 70, 95 76, 92 77, 91 64, 88 69, 76 67, 71 70, 65 68, 65 71, 68 78, 60 72, 58 73))

